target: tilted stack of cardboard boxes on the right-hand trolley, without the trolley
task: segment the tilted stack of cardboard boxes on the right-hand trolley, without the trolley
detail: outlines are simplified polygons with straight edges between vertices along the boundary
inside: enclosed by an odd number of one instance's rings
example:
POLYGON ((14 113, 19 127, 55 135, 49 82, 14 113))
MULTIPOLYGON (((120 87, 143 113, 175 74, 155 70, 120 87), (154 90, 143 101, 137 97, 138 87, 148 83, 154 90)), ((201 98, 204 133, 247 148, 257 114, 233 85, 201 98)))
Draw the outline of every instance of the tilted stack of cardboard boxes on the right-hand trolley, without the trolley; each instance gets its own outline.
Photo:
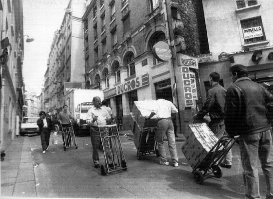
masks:
POLYGON ((189 128, 191 131, 184 134, 186 141, 182 146, 182 153, 194 169, 215 146, 218 138, 206 123, 190 124, 189 128))

